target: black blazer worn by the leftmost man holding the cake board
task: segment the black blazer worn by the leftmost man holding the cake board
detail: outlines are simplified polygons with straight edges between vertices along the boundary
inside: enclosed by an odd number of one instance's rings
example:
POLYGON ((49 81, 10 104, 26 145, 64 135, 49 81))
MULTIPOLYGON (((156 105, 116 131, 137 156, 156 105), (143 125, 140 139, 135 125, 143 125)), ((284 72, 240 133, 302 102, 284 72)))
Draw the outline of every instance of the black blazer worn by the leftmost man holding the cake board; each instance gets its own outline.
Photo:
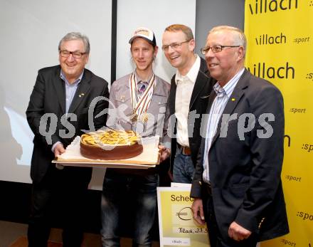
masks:
MULTIPOLYGON (((73 136, 64 137, 63 135, 61 137, 60 131, 68 133, 70 125, 65 127, 60 122, 61 117, 65 114, 65 83, 60 78, 60 65, 42 68, 38 71, 36 83, 26 110, 28 125, 35 134, 31 159, 31 179, 33 179, 33 182, 40 182, 51 165, 51 161, 54 159, 51 148, 55 142, 62 142, 64 147, 67 147, 74 140, 75 136, 83 134, 82 130, 90 130, 88 109, 92 100, 97 96, 109 98, 107 82, 94 75, 90 70, 85 69, 83 78, 78 85, 68 110, 68 113, 74 113, 77 116, 77 120, 68 119, 68 122, 74 127, 73 136), (57 120, 50 143, 45 136, 41 135, 39 129, 41 117, 46 113, 52 113, 57 120)), ((96 129, 105 125, 106 114, 100 117, 95 116, 107 108, 107 105, 108 102, 106 100, 101 100, 95 106, 93 121, 96 129)), ((51 125, 52 121, 52 118, 48 121, 46 131, 49 128, 53 128, 53 125, 51 125)), ((89 172, 91 177, 91 169, 88 169, 88 171, 86 169, 86 172, 89 172)))

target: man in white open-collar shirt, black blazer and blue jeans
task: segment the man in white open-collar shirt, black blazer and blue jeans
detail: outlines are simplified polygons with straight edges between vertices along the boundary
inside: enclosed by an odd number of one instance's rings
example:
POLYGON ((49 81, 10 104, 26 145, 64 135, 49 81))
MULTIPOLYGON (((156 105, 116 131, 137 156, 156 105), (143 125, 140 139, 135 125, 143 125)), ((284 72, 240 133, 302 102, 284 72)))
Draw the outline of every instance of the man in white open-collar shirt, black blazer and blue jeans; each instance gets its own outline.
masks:
POLYGON ((171 172, 174 182, 191 183, 201 143, 201 119, 208 105, 213 79, 206 62, 194 53, 191 28, 181 24, 168 26, 162 44, 167 60, 177 68, 171 78, 167 104, 171 115, 171 172))

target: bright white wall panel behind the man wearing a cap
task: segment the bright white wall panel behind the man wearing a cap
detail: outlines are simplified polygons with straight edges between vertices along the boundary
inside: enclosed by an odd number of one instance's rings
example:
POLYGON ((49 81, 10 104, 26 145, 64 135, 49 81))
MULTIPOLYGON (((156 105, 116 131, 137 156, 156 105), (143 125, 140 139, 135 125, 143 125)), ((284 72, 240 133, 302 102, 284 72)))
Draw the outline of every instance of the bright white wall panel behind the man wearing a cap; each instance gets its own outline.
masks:
POLYGON ((154 73, 170 81, 175 69, 166 61, 161 50, 162 34, 166 26, 182 23, 195 30, 196 0, 118 0, 117 1, 117 78, 131 73, 134 65, 129 51, 129 38, 141 26, 154 31, 159 52, 154 63, 154 73))

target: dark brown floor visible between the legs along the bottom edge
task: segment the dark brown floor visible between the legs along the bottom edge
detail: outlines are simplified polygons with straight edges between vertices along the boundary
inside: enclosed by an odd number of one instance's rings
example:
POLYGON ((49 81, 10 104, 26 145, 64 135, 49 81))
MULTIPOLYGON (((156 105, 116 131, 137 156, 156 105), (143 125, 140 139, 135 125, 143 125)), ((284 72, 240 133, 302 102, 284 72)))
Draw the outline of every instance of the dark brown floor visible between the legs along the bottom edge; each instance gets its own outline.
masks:
MULTIPOLYGON (((27 247, 27 225, 9 221, 0 221, 0 247, 27 247)), ((61 231, 53 228, 50 234, 48 247, 61 247, 61 231)), ((100 247, 99 234, 85 233, 83 247, 100 247)), ((122 238, 122 247, 132 246, 131 238, 122 238)), ((158 247, 159 242, 154 241, 152 247, 158 247)))

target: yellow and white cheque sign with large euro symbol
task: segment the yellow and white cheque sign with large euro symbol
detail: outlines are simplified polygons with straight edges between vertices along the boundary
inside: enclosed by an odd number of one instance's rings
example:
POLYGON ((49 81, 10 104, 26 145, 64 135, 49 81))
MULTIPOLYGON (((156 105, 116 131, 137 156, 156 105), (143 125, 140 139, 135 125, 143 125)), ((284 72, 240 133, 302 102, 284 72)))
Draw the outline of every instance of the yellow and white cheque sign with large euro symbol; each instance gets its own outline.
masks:
POLYGON ((160 246, 210 246, 208 228, 193 220, 188 187, 158 187, 160 246))

